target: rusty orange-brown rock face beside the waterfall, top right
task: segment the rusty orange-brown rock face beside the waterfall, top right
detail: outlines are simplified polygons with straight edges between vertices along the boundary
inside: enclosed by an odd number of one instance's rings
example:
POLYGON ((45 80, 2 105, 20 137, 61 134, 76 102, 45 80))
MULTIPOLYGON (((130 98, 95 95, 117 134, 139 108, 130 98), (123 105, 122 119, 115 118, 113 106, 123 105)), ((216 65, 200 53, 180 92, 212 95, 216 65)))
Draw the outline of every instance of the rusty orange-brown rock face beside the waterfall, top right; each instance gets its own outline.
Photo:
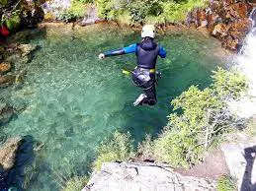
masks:
POLYGON ((220 39, 222 46, 238 51, 252 22, 249 15, 253 6, 247 1, 211 0, 206 9, 196 9, 188 14, 186 24, 197 28, 208 28, 220 39))

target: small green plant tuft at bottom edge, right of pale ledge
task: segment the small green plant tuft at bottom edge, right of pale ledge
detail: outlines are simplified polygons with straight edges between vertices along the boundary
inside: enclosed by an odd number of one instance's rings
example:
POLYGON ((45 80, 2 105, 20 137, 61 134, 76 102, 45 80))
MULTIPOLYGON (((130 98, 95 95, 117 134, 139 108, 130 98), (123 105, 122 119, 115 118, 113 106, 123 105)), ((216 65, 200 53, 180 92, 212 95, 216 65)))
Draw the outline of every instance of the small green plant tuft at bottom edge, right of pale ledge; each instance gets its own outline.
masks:
POLYGON ((235 191, 237 190, 236 183, 230 175, 228 174, 222 175, 217 180, 216 190, 217 191, 235 191))

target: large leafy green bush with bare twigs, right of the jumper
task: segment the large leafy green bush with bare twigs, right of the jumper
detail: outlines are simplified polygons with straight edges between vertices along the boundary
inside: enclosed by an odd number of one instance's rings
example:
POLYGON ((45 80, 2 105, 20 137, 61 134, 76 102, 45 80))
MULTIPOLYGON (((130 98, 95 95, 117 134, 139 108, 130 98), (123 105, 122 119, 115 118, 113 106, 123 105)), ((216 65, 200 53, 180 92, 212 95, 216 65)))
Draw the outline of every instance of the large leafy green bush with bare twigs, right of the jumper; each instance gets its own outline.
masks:
POLYGON ((247 90, 244 75, 218 68, 211 88, 201 91, 192 86, 173 99, 174 110, 182 113, 169 115, 167 127, 155 141, 157 159, 176 166, 191 166, 201 160, 213 141, 238 121, 227 101, 238 99, 247 90))

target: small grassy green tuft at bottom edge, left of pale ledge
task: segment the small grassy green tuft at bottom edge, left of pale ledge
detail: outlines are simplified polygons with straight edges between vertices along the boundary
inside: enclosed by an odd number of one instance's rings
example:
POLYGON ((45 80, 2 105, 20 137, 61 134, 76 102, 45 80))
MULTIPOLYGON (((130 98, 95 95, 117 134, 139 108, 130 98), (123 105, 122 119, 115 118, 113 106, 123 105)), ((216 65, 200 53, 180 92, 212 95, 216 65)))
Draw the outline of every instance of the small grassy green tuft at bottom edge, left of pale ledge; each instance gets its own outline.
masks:
POLYGON ((87 177, 75 176, 66 182, 62 191, 80 191, 88 182, 87 177))

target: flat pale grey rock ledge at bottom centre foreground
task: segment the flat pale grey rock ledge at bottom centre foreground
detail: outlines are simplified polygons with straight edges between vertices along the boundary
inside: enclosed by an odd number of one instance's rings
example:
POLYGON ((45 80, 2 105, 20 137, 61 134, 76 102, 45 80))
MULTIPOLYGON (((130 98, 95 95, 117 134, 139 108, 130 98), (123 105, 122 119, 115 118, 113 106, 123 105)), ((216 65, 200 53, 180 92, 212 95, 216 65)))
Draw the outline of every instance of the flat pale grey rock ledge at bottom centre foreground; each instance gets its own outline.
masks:
POLYGON ((168 165, 152 162, 105 162, 82 191, 207 191, 215 181, 183 176, 168 165))

